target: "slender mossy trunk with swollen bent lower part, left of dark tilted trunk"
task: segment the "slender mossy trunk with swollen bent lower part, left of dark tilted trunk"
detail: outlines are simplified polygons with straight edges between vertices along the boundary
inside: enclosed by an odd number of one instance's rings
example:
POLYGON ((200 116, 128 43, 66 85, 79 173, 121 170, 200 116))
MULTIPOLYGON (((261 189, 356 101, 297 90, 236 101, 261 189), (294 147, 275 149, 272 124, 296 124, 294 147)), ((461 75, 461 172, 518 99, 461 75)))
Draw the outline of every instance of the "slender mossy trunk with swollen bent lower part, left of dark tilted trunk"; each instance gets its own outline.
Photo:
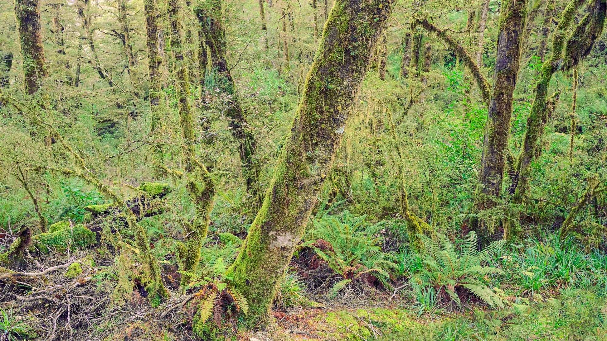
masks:
MULTIPOLYGON (((179 18, 180 5, 178 0, 169 0, 167 14, 171 25, 171 53, 173 57, 173 74, 175 77, 175 94, 178 100, 179 123, 183 148, 185 171, 188 174, 186 189, 195 204, 195 218, 192 223, 186 223, 186 250, 183 259, 183 270, 194 273, 200 260, 200 248, 206 238, 209 228, 209 219, 215 197, 215 184, 205 165, 195 158, 194 142, 194 114, 189 103, 189 77, 188 62, 185 58, 186 50, 181 43, 183 28, 179 18)), ((191 277, 183 275, 181 286, 188 284, 191 277)))

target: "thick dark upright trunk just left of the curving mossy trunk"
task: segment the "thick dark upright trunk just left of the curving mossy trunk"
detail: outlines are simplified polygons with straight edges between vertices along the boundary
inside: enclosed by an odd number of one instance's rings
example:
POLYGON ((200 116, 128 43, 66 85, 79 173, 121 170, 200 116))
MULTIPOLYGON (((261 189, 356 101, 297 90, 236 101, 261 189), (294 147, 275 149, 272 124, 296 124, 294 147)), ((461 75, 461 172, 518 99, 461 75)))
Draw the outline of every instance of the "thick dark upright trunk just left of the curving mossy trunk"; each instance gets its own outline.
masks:
MULTIPOLYGON (((517 84, 526 8, 525 0, 501 3, 493 91, 489 102, 489 119, 485 126, 479 174, 480 191, 476 197, 478 211, 495 207, 495 199, 501 194, 512 116, 512 94, 517 84)), ((477 228, 483 243, 489 239, 492 231, 487 231, 482 221, 479 223, 477 228)))

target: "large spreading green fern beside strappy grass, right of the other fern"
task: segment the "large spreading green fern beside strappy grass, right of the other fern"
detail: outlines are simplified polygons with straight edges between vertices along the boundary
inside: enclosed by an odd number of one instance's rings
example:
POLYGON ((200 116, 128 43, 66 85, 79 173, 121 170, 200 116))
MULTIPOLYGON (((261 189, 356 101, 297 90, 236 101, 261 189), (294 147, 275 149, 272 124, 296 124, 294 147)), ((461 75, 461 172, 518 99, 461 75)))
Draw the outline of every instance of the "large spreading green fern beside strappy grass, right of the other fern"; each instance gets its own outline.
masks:
POLYGON ((489 306, 504 308, 504 302, 491 290, 486 279, 486 276, 504 274, 504 271, 483 265, 484 260, 492 259, 504 248, 504 240, 492 242, 479 252, 476 251, 478 239, 474 231, 466 235, 461 251, 456 251, 444 234, 438 234, 436 242, 427 236, 422 239, 426 245, 426 266, 413 280, 446 292, 458 306, 463 306, 460 294, 465 290, 489 306))

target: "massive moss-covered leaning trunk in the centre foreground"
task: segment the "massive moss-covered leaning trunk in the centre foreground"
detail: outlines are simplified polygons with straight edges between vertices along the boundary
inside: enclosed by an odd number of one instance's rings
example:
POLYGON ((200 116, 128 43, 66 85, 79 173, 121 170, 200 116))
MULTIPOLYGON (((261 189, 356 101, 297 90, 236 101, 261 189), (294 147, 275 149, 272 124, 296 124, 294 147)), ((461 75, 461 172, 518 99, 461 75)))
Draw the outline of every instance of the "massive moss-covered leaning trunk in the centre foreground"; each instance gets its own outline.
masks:
POLYGON ((333 5, 263 206, 229 270, 248 300, 251 321, 268 319, 394 2, 333 5))

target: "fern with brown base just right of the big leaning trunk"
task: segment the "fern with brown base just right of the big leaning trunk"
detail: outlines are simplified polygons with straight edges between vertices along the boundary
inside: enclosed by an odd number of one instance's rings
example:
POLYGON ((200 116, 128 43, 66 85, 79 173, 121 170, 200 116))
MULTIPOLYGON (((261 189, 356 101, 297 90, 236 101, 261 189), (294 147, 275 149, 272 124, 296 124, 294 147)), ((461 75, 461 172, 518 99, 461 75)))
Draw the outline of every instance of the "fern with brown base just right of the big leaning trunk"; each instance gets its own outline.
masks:
POLYGON ((384 225, 372 225, 365 222, 365 218, 344 211, 342 216, 325 216, 314 221, 314 251, 346 281, 336 285, 337 291, 363 274, 370 274, 390 287, 388 280, 390 273, 396 270, 396 264, 392 255, 381 251, 379 232, 384 225))

